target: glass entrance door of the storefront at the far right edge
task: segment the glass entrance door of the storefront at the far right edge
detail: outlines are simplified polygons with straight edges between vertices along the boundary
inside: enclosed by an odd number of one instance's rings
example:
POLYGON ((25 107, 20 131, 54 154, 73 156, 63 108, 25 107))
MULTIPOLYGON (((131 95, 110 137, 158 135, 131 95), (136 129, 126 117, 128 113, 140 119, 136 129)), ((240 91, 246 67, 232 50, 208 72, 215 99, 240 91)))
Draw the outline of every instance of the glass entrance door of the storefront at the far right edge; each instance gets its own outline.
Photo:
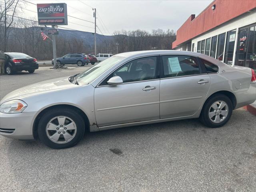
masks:
POLYGON ((239 30, 236 65, 256 70, 256 24, 239 30))

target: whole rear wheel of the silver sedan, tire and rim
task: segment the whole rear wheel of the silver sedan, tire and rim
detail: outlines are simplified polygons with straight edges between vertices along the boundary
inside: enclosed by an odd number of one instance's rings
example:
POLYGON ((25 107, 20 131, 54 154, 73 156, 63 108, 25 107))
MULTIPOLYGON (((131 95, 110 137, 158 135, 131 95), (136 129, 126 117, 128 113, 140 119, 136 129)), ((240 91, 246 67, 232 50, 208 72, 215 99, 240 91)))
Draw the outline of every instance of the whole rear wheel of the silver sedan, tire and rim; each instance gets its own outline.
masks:
POLYGON ((210 127, 221 127, 228 122, 233 111, 231 100, 223 94, 216 94, 209 98, 202 109, 200 120, 210 127))

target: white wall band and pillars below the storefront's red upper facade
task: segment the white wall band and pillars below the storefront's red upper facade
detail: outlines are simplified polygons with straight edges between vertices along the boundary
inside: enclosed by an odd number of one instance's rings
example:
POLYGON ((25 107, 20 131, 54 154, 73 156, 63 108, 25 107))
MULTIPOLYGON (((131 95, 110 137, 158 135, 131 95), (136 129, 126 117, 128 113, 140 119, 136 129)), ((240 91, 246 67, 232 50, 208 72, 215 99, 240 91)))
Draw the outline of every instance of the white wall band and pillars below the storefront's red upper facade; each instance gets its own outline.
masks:
MULTIPOLYGON (((209 20, 209 22, 211 22, 211 21, 209 20)), ((196 38, 193 38, 192 44, 194 43, 194 50, 197 50, 197 42, 198 41, 201 41, 201 40, 204 40, 204 39, 207 39, 207 38, 210 38, 210 37, 213 37, 213 36, 236 29, 236 39, 235 39, 234 56, 233 56, 233 65, 234 65, 235 56, 236 56, 236 45, 237 45, 237 39, 238 39, 238 29, 241 27, 244 27, 246 25, 253 24, 255 22, 256 22, 256 10, 253 10, 253 11, 248 12, 234 20, 231 20, 230 22, 227 22, 224 25, 216 27, 207 33, 197 36, 196 38)), ((226 39, 225 39, 225 42, 226 42, 226 39)), ((192 47, 192 44, 191 44, 191 47, 192 47)), ((225 46, 226 46, 226 43, 225 43, 225 46)), ((224 50, 225 50, 225 47, 224 47, 224 50)))

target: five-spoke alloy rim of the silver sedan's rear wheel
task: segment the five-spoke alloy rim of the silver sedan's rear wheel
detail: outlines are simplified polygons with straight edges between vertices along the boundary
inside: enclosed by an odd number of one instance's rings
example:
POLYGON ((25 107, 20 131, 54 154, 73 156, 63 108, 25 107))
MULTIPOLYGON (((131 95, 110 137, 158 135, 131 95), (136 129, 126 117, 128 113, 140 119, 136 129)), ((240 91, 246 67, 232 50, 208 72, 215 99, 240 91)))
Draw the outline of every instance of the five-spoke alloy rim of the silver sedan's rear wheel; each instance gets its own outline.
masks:
POLYGON ((214 123, 222 122, 228 116, 228 105, 224 101, 214 102, 209 109, 208 116, 214 123))

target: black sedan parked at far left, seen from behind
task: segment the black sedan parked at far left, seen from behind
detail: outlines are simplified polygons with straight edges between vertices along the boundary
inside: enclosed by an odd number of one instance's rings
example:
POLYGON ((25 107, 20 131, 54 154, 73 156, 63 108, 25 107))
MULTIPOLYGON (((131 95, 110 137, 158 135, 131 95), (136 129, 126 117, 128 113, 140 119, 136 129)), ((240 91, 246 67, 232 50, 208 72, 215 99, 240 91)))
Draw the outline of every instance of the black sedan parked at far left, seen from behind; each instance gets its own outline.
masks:
POLYGON ((35 58, 32 58, 24 53, 6 52, 5 72, 8 75, 15 72, 28 71, 34 73, 38 69, 38 62, 35 58))

